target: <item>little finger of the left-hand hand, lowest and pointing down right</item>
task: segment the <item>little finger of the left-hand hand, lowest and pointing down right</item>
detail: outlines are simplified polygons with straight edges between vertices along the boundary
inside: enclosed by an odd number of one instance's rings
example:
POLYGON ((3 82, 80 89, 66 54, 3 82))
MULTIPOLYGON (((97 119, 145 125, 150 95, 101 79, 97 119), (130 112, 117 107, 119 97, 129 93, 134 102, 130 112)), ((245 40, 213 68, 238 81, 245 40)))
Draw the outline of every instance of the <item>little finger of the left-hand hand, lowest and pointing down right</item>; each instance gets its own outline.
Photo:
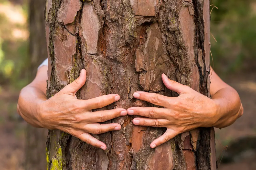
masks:
POLYGON ((98 139, 94 138, 89 133, 83 133, 83 134, 79 135, 78 138, 81 139, 82 141, 88 143, 89 145, 95 146, 97 148, 101 148, 103 150, 105 150, 107 148, 105 143, 103 143, 103 142, 99 141, 98 139))

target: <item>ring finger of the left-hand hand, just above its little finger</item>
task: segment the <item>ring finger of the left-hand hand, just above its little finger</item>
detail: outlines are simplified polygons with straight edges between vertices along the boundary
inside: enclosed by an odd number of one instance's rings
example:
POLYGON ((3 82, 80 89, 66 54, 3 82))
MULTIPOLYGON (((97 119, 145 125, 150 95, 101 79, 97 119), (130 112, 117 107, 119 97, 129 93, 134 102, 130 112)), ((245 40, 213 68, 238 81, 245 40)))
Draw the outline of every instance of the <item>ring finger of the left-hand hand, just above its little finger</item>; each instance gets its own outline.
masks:
POLYGON ((118 123, 110 123, 110 124, 99 124, 99 123, 89 123, 83 127, 83 130, 89 132, 91 134, 102 134, 114 130, 120 130, 121 125, 118 123))

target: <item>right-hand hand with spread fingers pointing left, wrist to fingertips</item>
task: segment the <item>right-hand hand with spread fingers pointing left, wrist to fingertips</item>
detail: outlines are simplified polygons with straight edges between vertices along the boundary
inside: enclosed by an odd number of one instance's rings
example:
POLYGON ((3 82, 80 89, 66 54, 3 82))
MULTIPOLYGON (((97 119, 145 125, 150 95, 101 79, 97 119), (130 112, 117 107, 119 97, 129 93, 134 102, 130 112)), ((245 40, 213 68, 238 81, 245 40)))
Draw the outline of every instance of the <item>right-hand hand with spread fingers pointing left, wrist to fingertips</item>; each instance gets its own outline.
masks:
POLYGON ((198 93, 192 88, 169 80, 162 75, 165 86, 177 92, 178 97, 167 97, 154 93, 137 91, 133 96, 137 99, 153 103, 164 108, 132 107, 127 110, 129 115, 139 115, 133 124, 138 126, 166 127, 166 132, 151 143, 155 148, 178 134, 198 127, 211 127, 216 119, 217 107, 214 100, 198 93))

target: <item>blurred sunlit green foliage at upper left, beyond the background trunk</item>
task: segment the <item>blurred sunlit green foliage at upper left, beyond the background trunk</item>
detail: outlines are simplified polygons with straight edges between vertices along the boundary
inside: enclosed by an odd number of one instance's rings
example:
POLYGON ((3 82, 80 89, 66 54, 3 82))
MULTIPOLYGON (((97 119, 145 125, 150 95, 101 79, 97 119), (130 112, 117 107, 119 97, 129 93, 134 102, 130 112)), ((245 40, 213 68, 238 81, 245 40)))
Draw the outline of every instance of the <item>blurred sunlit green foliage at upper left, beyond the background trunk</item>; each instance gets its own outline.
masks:
POLYGON ((28 83, 28 4, 0 0, 0 90, 28 83))

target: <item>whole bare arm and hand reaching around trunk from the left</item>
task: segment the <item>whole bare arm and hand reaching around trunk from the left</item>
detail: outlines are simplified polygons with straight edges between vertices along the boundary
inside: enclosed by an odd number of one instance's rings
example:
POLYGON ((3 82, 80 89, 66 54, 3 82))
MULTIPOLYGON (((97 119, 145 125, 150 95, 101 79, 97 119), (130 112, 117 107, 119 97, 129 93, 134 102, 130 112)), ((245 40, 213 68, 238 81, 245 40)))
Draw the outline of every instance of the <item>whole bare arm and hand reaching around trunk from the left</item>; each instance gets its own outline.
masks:
POLYGON ((65 86, 56 95, 46 97, 47 67, 39 68, 35 80, 24 87, 19 95, 17 111, 25 121, 35 127, 59 129, 67 132, 90 145, 106 149, 106 145, 92 137, 92 134, 101 134, 112 130, 120 130, 117 123, 100 124, 127 114, 125 109, 95 111, 120 99, 117 94, 100 96, 89 100, 78 100, 76 92, 86 81, 86 71, 83 69, 80 76, 65 86))

